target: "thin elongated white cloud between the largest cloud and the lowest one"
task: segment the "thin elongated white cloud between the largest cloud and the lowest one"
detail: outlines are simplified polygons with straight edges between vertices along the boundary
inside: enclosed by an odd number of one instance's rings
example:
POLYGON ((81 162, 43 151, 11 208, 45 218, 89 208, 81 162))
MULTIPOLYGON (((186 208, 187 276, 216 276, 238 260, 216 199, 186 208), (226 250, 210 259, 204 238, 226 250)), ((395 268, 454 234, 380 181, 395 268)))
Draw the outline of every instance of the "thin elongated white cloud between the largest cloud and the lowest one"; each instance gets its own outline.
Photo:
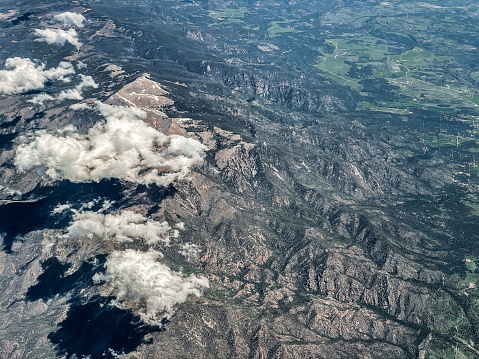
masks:
POLYGON ((68 234, 73 238, 97 236, 117 242, 143 240, 148 244, 169 244, 170 237, 177 237, 168 222, 152 221, 129 210, 110 214, 75 211, 68 234))

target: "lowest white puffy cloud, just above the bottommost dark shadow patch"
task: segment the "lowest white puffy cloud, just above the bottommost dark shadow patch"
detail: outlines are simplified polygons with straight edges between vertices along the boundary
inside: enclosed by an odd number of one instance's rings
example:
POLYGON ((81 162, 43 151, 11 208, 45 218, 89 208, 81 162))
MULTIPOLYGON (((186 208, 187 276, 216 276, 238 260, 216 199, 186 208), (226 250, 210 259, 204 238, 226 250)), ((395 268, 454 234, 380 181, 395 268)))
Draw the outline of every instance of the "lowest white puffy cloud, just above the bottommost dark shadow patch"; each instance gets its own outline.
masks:
POLYGON ((118 305, 133 308, 146 322, 158 324, 171 317, 176 304, 184 303, 189 295, 201 296, 209 287, 208 279, 175 272, 159 263, 159 257, 156 251, 115 251, 106 260, 105 274, 93 279, 106 280, 115 288, 118 305))

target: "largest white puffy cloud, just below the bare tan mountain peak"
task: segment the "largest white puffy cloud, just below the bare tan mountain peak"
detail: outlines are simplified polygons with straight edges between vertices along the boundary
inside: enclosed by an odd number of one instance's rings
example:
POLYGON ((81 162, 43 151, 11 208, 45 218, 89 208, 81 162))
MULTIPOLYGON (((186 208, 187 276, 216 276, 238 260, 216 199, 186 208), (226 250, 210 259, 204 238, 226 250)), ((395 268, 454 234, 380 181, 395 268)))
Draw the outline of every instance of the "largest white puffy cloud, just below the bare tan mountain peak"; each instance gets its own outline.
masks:
POLYGON ((40 168, 54 180, 72 182, 119 178, 139 184, 166 186, 185 178, 203 160, 206 146, 195 139, 167 136, 141 120, 135 107, 97 103, 106 121, 87 134, 52 135, 45 132, 19 145, 15 165, 20 170, 40 168))

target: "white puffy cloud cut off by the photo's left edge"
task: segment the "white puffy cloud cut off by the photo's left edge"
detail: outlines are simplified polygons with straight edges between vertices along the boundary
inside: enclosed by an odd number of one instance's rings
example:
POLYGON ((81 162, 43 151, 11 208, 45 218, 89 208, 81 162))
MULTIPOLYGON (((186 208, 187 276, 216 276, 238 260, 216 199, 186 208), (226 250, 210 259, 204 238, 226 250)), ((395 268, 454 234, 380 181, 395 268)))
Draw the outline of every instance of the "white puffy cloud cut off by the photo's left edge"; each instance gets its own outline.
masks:
POLYGON ((29 58, 12 57, 5 61, 6 70, 0 70, 0 93, 16 94, 38 90, 49 80, 69 82, 68 75, 74 74, 73 65, 60 62, 58 67, 45 70, 44 64, 35 64, 29 58))

